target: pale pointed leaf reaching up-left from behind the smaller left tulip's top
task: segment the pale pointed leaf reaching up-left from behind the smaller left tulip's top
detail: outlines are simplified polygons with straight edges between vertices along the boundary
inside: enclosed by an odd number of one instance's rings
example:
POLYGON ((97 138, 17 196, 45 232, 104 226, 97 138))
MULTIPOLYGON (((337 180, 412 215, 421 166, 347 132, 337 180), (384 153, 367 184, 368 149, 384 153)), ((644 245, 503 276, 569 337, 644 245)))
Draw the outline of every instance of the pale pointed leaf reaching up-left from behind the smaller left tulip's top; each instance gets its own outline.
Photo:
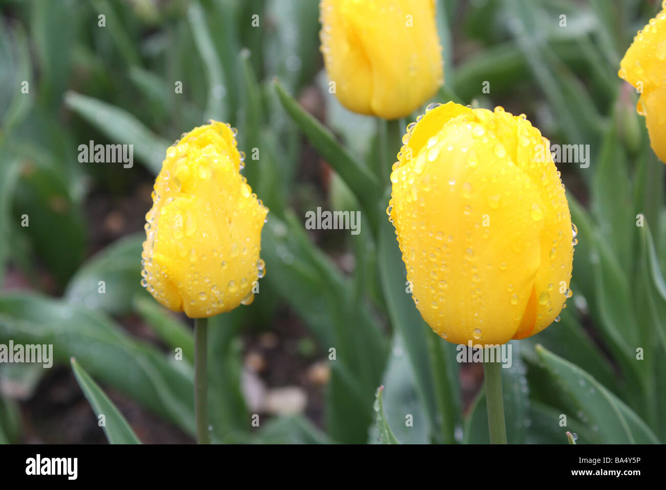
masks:
POLYGON ((68 91, 67 107, 107 135, 114 144, 134 145, 134 154, 152 173, 159 173, 171 143, 155 135, 137 117, 93 97, 68 91))

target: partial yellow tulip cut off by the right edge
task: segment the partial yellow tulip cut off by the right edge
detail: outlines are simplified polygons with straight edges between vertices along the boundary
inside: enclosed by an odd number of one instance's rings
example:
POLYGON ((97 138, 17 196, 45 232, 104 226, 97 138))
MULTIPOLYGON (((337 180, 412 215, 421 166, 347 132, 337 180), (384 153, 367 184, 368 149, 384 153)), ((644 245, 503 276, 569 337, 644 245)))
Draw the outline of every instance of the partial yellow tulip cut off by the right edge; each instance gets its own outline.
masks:
POLYGON ((645 116, 652 149, 666 162, 666 1, 662 6, 633 38, 617 74, 641 93, 636 109, 645 116))

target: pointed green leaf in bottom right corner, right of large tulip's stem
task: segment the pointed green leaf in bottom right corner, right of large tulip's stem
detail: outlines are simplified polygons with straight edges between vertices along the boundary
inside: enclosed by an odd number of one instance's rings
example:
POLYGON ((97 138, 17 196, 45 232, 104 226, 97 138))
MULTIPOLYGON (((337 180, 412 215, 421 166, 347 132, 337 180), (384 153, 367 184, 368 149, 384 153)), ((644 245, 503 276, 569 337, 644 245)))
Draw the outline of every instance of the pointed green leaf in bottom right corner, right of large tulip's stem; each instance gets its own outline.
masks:
POLYGON ((657 436, 623 401, 578 366, 537 345, 551 376, 579 410, 579 418, 605 444, 659 444, 657 436))

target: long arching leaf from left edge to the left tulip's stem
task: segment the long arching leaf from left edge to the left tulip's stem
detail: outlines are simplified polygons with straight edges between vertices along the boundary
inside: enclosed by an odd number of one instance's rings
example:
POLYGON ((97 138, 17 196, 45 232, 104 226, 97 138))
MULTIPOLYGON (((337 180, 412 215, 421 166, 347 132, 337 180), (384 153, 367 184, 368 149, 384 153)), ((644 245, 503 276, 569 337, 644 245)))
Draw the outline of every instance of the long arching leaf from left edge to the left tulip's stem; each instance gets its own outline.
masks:
POLYGON ((0 341, 53 345, 55 361, 76 357, 91 375, 194 433, 192 372, 132 339, 99 311, 35 293, 0 298, 0 341))

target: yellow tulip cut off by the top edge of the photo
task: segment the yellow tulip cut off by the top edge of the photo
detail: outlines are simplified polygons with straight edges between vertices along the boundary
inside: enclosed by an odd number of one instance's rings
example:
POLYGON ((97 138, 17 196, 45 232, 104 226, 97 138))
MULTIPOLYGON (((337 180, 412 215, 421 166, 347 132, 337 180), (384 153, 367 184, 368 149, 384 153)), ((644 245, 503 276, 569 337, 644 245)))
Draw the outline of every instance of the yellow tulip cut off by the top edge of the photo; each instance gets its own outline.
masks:
POLYGON ((329 90, 351 111, 410 115, 444 81, 434 0, 322 0, 329 90))

